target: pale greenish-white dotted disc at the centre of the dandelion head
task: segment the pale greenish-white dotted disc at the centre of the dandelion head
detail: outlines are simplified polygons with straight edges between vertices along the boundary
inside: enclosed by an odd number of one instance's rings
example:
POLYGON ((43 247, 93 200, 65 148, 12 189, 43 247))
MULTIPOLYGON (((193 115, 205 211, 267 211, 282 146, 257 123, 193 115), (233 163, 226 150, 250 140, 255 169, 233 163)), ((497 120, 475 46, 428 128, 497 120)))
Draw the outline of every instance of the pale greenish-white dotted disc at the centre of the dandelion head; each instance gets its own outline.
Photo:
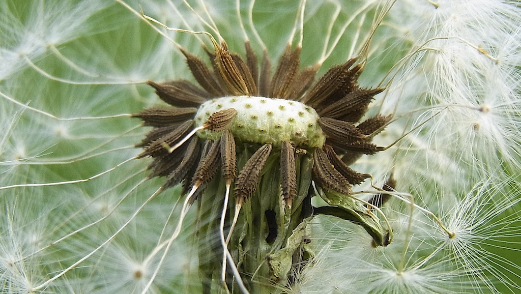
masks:
MULTIPOLYGON (((228 96, 208 101, 195 115, 196 126, 202 126, 213 113, 228 108, 237 110, 229 129, 239 141, 275 146, 289 141, 303 148, 321 147, 326 141, 315 109, 297 101, 266 97, 228 96)), ((202 130, 197 136, 217 139, 220 134, 202 130)))

